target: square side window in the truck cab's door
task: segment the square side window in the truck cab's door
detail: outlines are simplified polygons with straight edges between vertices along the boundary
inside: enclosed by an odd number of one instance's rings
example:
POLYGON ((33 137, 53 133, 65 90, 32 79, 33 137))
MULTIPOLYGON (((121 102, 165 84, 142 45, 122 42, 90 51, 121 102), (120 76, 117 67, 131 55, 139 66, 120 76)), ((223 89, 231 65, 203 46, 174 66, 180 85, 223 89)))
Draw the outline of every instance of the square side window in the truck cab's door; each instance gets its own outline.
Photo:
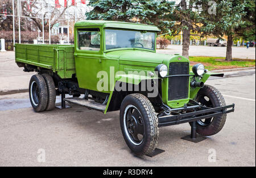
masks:
POLYGON ((99 28, 78 30, 78 47, 81 50, 100 51, 101 35, 99 28))

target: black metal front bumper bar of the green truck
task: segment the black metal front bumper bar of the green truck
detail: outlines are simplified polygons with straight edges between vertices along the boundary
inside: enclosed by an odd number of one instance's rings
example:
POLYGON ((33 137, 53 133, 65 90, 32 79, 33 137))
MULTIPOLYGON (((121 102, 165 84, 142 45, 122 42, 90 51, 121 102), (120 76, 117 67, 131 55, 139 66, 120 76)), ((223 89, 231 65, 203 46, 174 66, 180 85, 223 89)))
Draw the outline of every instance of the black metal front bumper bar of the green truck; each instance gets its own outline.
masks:
POLYGON ((165 115, 158 117, 158 127, 178 125, 180 123, 198 121, 205 118, 216 117, 221 114, 228 114, 234 112, 234 104, 221 107, 207 108, 199 106, 200 110, 189 113, 176 113, 177 115, 165 115))

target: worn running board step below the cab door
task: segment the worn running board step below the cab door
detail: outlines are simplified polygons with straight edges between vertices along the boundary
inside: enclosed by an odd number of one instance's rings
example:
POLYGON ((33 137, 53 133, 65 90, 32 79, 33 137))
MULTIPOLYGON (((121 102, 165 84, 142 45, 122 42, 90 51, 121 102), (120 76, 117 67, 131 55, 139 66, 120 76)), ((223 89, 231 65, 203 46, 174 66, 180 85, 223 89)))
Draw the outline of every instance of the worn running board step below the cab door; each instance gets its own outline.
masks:
POLYGON ((98 110, 104 112, 106 109, 106 105, 99 104, 98 102, 95 102, 93 100, 85 100, 78 97, 73 98, 64 98, 64 101, 70 102, 72 104, 77 104, 81 106, 88 107, 90 109, 98 110))

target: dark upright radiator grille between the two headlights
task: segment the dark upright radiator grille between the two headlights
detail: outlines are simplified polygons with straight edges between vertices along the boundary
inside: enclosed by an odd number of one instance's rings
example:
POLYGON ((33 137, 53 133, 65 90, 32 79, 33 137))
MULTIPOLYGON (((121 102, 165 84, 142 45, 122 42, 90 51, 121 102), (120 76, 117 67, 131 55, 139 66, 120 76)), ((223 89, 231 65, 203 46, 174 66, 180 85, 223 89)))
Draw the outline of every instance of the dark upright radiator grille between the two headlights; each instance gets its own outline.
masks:
MULTIPOLYGON (((189 74, 188 63, 170 63, 169 76, 189 74)), ((168 77, 168 101, 188 98, 189 76, 168 77)))

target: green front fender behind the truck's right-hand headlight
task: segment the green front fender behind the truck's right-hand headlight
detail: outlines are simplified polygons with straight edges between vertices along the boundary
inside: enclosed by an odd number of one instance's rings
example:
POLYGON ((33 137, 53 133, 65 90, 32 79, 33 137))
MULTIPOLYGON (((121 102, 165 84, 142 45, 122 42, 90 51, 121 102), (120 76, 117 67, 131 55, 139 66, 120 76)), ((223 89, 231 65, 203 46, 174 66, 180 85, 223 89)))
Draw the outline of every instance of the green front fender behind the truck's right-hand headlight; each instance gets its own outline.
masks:
MULTIPOLYGON (((194 74, 194 73, 191 73, 191 74, 194 74)), ((201 78, 200 77, 195 77, 195 79, 196 79, 197 82, 204 82, 205 83, 210 76, 223 77, 224 73, 208 72, 208 73, 205 73, 203 75, 203 77, 201 77, 201 78)), ((192 81, 193 78, 194 78, 194 76, 192 76, 190 78, 190 81, 192 81)), ((199 92, 199 90, 200 90, 199 87, 197 87, 197 88, 192 88, 191 87, 190 88, 190 96, 189 96, 189 98, 191 98, 191 100, 195 99, 195 97, 196 97, 197 93, 199 92)))

